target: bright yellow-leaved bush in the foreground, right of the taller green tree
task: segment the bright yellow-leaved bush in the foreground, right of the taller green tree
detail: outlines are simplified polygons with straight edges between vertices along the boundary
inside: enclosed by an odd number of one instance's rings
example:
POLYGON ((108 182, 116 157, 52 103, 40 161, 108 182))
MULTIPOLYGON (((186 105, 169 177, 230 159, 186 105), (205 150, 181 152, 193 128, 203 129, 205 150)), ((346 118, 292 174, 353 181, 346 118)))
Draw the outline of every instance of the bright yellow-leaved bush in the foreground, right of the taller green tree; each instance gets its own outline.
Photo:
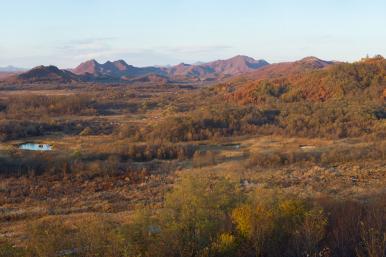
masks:
POLYGON ((320 252, 327 225, 321 208, 296 200, 264 201, 232 212, 248 256, 313 256, 320 252))

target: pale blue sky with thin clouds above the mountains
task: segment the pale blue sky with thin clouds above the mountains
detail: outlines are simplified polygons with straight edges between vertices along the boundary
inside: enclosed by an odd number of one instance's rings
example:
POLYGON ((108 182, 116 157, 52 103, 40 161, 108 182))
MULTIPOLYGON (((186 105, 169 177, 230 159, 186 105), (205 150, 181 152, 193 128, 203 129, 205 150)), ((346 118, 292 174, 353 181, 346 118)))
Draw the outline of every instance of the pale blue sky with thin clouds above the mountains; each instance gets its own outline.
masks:
POLYGON ((0 0, 0 67, 386 55, 385 0, 0 0))

